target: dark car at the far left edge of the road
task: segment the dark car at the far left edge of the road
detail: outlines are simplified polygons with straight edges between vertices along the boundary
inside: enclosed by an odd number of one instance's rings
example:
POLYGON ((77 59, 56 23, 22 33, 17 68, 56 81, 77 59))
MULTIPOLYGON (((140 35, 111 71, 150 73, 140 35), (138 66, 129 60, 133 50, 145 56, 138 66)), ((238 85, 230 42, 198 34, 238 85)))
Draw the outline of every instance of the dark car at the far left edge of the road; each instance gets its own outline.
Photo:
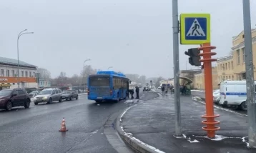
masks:
POLYGON ((4 89, 0 91, 0 109, 10 111, 12 107, 30 106, 29 94, 24 89, 4 89))

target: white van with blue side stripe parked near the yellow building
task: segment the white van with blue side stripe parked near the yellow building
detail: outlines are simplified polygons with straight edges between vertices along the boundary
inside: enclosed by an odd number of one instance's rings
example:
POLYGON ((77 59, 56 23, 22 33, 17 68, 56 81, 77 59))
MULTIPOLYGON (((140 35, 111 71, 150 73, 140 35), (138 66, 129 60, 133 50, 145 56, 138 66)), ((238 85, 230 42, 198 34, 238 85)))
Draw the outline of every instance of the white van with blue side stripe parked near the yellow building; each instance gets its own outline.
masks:
POLYGON ((246 95, 246 81, 220 82, 220 104, 222 106, 239 106, 240 109, 247 110, 246 95))

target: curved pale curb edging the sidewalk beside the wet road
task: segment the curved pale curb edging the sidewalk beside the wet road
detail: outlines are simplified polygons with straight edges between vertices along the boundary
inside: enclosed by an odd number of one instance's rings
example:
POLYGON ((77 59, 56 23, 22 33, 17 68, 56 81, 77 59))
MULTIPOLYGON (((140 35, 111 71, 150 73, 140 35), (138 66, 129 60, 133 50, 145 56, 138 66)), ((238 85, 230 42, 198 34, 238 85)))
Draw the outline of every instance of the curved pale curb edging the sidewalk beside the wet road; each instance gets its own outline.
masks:
MULTIPOLYGON (((158 96, 159 97, 159 96, 158 96)), ((153 98, 153 99, 157 99, 153 98)), ((152 100, 152 99, 149 99, 152 100)), ((147 101, 149 101, 147 100, 147 101)), ((147 102, 144 101, 144 102, 147 102)), ((143 103, 143 102, 142 102, 143 103)), ((135 107, 136 105, 132 106, 135 107)), ((121 123, 122 123, 122 116, 124 115, 125 112, 127 112, 129 109, 132 109, 132 107, 129 107, 128 109, 125 109, 122 114, 119 114, 119 116, 117 117, 117 121, 116 121, 116 128, 117 128, 117 133, 119 134, 119 136, 122 138, 122 140, 124 141, 125 144, 128 144, 129 147, 131 147, 135 152, 137 153, 159 153, 154 149, 151 149, 149 147, 147 147, 146 145, 142 144, 142 142, 138 142, 136 139, 134 139, 134 137, 131 137, 129 134, 127 134, 126 132, 124 132, 124 130, 121 127, 121 123)))

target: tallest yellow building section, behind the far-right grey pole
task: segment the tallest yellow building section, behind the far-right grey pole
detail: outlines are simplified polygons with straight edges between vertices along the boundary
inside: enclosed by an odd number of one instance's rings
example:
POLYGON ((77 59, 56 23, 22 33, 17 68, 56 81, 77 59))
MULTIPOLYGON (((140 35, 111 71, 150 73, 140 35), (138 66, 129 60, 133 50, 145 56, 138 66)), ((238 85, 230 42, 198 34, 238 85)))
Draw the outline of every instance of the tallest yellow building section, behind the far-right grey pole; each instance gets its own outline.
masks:
MULTIPOLYGON (((232 39, 234 79, 245 79, 245 36, 242 31, 232 39)), ((252 54, 256 55, 256 29, 252 29, 252 54)), ((256 77, 256 58, 253 58, 254 76, 256 77)))

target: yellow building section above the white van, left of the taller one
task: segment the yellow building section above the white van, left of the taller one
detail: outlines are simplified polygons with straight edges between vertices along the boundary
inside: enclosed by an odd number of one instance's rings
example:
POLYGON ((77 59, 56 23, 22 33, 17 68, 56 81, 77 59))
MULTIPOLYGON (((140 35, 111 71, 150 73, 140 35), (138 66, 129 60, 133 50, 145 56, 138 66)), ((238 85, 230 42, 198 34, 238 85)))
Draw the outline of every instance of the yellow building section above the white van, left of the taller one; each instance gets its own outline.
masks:
POLYGON ((218 82, 223 80, 237 80, 234 74, 234 61, 233 56, 226 56, 217 60, 217 74, 218 82))

